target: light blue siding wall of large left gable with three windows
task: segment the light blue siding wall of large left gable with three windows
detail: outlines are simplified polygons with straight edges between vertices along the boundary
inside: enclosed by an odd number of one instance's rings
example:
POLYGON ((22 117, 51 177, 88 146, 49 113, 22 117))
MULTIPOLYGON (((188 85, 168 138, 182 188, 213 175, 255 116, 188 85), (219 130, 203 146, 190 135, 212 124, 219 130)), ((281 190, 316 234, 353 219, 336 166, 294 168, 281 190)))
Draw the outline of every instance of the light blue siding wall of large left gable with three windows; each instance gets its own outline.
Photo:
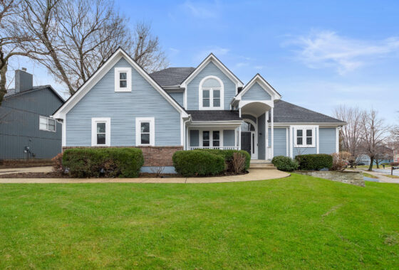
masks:
POLYGON ((180 112, 125 58, 66 113, 65 146, 101 146, 103 134, 106 146, 181 146, 180 133, 180 112))

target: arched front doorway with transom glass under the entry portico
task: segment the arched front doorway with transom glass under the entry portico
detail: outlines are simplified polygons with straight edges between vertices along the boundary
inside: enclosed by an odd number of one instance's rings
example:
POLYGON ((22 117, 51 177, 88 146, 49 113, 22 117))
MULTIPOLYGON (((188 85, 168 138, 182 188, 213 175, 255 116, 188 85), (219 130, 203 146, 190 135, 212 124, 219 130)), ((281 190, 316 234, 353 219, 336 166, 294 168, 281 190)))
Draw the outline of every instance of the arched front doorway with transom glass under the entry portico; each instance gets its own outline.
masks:
POLYGON ((241 149, 247 151, 252 159, 258 158, 257 123, 251 119, 243 119, 241 124, 241 149))

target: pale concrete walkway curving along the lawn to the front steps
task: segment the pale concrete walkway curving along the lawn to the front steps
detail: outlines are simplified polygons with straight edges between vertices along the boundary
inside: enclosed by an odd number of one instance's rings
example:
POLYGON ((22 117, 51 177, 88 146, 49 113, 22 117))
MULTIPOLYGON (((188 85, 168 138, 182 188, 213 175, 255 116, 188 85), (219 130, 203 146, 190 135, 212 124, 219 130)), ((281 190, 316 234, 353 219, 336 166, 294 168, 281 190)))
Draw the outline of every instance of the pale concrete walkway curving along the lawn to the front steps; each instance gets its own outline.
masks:
POLYGON ((244 175, 198 178, 0 178, 0 183, 228 183, 284 178, 289 173, 250 169, 244 175))

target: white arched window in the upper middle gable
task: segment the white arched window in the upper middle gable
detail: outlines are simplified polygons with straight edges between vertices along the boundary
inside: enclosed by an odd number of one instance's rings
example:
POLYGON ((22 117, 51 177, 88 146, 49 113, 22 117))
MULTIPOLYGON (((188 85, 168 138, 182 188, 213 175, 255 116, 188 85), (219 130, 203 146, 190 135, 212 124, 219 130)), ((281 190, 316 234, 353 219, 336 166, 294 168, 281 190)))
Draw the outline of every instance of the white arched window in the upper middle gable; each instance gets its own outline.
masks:
POLYGON ((199 109, 224 109, 223 82, 218 77, 204 77, 199 83, 199 109))

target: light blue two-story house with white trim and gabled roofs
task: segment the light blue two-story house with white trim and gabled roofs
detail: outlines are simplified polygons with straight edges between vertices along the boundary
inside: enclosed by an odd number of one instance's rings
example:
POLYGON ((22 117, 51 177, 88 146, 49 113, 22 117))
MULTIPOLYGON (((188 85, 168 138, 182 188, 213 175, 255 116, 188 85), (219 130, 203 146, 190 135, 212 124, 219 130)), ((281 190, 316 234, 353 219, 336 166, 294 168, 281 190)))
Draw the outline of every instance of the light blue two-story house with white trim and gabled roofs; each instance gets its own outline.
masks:
POLYGON ((118 49, 54 114, 63 148, 139 147, 145 167, 195 148, 244 149, 253 159, 338 151, 343 121, 284 102, 261 75, 244 83, 210 54, 197 68, 152 74, 118 49))

